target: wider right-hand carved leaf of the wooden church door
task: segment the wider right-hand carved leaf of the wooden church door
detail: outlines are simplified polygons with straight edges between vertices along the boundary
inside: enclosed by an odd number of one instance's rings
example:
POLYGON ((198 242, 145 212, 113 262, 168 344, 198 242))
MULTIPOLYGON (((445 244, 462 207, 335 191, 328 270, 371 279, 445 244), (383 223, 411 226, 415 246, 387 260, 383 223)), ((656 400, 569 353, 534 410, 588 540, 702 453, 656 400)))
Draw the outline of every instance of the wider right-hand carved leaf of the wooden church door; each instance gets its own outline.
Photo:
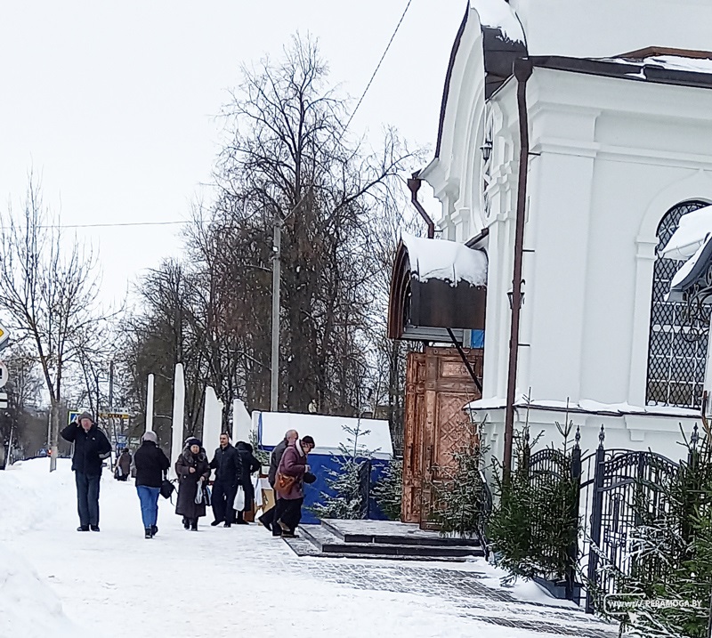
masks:
MULTIPOLYGON (((481 378, 481 351, 466 351, 475 375, 481 378)), ((425 432, 420 527, 436 529, 429 521, 435 503, 433 483, 447 481, 455 466, 453 452, 470 435, 463 408, 481 396, 463 360, 453 348, 425 351, 425 432)))

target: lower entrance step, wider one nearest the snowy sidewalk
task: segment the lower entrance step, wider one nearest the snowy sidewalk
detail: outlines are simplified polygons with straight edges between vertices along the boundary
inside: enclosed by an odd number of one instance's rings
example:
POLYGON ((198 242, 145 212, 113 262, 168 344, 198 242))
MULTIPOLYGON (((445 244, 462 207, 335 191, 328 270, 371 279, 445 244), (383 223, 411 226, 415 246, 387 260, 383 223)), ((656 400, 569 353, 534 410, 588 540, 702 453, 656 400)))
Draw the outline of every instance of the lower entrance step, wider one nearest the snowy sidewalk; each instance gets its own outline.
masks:
POLYGON ((345 542, 328 528, 320 525, 301 525, 300 532, 321 553, 373 555, 381 558, 411 556, 440 560, 443 558, 468 558, 483 556, 480 547, 472 545, 412 545, 396 543, 345 542))

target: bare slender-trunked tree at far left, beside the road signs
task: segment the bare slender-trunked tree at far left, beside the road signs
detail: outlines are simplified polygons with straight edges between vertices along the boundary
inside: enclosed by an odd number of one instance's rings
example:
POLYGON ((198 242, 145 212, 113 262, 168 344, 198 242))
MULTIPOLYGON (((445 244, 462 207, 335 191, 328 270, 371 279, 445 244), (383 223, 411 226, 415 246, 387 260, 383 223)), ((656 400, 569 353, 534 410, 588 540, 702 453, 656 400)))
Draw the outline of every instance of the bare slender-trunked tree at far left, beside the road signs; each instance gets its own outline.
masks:
POLYGON ((65 240, 44 206, 39 182, 29 175, 22 210, 0 214, 0 312, 21 343, 31 348, 52 405, 51 471, 56 467, 60 406, 69 362, 99 333, 96 261, 75 238, 65 240))

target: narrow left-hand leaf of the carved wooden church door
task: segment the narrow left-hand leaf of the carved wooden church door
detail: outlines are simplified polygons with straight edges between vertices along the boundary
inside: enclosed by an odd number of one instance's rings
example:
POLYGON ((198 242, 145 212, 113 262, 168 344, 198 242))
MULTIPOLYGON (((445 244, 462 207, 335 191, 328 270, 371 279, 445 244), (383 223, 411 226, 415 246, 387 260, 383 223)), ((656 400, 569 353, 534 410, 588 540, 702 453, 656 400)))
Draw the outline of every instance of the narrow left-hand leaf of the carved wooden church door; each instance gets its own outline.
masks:
POLYGON ((407 523, 419 523, 425 432, 425 354, 420 352, 409 352, 408 355, 405 408, 401 520, 407 523))

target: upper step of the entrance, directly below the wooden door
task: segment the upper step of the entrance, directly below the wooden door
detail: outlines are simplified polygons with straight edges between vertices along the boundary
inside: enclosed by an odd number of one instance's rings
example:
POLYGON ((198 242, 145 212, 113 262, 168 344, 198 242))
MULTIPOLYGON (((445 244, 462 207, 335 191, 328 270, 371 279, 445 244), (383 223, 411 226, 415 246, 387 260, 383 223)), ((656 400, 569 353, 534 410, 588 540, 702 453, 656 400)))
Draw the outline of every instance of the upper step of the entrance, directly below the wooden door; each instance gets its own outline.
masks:
POLYGON ((438 547, 481 547, 476 538, 442 537, 438 532, 396 521, 338 521, 325 519, 321 526, 344 543, 380 545, 432 545, 438 547))

